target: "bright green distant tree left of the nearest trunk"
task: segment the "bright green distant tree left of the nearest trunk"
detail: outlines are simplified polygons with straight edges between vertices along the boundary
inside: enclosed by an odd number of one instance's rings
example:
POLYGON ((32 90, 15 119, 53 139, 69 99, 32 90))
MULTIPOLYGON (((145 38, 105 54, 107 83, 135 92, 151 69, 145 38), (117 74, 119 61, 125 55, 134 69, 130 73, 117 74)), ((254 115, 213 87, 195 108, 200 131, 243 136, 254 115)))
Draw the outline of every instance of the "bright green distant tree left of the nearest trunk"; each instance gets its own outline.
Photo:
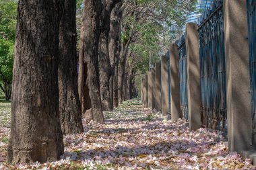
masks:
POLYGON ((0 0, 0 90, 11 98, 17 1, 0 0))

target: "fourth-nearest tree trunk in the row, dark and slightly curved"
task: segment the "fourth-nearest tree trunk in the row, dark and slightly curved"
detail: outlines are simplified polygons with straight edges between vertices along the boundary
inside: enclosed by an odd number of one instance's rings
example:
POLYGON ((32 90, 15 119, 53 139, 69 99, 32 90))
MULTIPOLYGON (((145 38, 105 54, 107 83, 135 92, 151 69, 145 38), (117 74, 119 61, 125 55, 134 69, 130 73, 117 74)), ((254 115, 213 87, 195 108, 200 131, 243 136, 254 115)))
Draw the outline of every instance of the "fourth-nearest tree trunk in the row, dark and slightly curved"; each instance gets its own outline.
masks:
POLYGON ((108 53, 108 37, 110 30, 110 13, 117 3, 121 0, 109 0, 103 1, 102 20, 101 20, 101 32, 100 32, 100 44, 99 44, 99 58, 100 58, 100 94, 102 100, 102 108, 106 111, 113 110, 113 96, 110 90, 113 88, 113 82, 110 83, 110 78, 113 75, 113 68, 110 65, 110 58, 108 53))

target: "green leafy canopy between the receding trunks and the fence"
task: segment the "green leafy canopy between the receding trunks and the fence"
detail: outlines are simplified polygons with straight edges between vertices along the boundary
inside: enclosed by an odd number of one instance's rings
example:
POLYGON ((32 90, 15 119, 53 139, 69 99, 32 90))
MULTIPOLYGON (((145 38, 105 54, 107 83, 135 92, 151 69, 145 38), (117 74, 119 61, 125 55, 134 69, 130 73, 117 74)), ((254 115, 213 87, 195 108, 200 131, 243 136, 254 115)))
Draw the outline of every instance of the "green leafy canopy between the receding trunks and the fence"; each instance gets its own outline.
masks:
POLYGON ((129 69, 135 71, 137 91, 141 77, 166 54, 168 45, 183 32, 186 15, 195 11, 196 1, 132 0, 126 1, 121 42, 131 38, 129 69), (131 35, 133 29, 133 35, 131 35))

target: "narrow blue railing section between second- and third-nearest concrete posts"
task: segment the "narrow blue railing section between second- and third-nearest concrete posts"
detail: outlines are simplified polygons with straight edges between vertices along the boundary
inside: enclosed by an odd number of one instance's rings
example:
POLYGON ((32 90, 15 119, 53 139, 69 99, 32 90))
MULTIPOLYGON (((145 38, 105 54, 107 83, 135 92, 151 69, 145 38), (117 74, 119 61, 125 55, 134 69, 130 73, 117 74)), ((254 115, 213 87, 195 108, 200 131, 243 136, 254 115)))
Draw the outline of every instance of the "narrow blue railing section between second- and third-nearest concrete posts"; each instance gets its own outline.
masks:
POLYGON ((180 94, 181 94, 181 112, 183 118, 189 119, 188 105, 187 105, 187 54, 185 35, 177 41, 179 50, 179 79, 180 79, 180 94))

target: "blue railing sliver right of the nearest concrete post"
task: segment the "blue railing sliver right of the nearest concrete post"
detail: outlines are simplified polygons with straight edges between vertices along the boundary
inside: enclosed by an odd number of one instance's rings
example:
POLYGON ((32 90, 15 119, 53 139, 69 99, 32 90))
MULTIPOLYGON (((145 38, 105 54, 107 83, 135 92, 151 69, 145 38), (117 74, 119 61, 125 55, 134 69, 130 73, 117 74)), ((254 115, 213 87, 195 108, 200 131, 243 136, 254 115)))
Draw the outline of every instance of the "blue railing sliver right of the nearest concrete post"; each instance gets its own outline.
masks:
POLYGON ((255 143, 256 134, 256 13, 255 0, 247 0, 248 31, 249 31, 249 64, 251 88, 251 118, 253 120, 252 141, 255 143))

